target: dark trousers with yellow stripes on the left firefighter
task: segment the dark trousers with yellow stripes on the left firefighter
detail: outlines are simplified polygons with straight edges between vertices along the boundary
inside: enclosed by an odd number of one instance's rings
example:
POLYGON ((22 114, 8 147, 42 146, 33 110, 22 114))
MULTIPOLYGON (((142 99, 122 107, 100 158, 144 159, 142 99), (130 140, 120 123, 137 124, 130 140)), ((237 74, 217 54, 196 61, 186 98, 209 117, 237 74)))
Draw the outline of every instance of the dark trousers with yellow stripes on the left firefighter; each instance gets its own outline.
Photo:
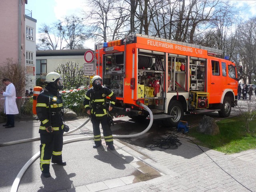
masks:
POLYGON ((63 134, 40 134, 40 168, 50 171, 50 161, 62 162, 63 134))

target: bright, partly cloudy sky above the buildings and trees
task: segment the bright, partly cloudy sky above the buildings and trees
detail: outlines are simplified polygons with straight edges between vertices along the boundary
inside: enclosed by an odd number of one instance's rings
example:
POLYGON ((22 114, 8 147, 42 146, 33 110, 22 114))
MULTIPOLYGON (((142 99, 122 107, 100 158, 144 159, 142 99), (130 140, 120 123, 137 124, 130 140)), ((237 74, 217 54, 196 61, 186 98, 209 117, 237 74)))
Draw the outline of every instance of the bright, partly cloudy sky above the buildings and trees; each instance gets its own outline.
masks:
MULTIPOLYGON (((248 19, 256 16, 256 0, 227 0, 234 7, 244 8, 240 13, 242 18, 248 19)), ((28 0, 25 11, 28 14, 32 11, 32 18, 37 20, 36 31, 38 38, 38 28, 42 24, 52 24, 64 16, 76 14, 81 16, 83 9, 86 9, 86 0, 28 0)), ((92 41, 86 42, 86 47, 94 49, 92 41)))

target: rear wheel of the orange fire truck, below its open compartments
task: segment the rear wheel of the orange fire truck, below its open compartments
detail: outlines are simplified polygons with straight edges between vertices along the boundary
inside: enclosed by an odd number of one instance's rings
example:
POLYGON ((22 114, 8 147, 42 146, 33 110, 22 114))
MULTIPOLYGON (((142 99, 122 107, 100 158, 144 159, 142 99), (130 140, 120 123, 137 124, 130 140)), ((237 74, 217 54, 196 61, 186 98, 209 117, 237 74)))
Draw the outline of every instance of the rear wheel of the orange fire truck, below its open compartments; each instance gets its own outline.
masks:
POLYGON ((163 121, 164 125, 167 127, 176 127, 180 120, 182 120, 184 116, 184 110, 182 108, 182 104, 178 101, 170 101, 168 106, 168 115, 172 115, 174 117, 168 118, 163 121))

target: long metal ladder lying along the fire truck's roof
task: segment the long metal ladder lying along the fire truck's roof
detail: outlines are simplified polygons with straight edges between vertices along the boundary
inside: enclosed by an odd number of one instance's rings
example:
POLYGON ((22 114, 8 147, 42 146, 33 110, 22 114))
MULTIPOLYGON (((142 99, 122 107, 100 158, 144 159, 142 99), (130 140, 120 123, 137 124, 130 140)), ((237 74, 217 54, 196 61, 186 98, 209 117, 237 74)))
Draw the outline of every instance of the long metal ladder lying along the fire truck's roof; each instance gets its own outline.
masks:
POLYGON ((159 38, 159 37, 153 37, 153 36, 148 36, 148 35, 142 35, 142 34, 138 34, 138 33, 135 33, 135 34, 129 35, 129 36, 137 36, 137 37, 140 36, 140 37, 144 37, 144 38, 155 39, 155 40, 159 40, 159 41, 164 41, 164 42, 169 42, 169 43, 173 43, 173 44, 178 44, 178 45, 193 47, 193 48, 197 48, 197 49, 204 49, 204 50, 207 50, 208 53, 210 53, 210 54, 215 54, 215 55, 220 55, 220 54, 222 54, 222 50, 220 50, 220 49, 205 47, 205 46, 196 45, 196 44, 191 44, 191 43, 185 43, 185 42, 174 41, 174 40, 169 40, 169 39, 164 39, 164 38, 159 38))

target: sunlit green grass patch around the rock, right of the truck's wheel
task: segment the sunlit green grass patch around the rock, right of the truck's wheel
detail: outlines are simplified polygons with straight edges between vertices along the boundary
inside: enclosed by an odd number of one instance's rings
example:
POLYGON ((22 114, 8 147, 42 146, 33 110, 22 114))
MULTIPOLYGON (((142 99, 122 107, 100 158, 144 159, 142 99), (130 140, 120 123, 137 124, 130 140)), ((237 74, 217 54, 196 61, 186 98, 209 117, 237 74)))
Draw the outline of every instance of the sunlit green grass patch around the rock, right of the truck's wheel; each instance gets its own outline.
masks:
POLYGON ((196 132, 190 128, 188 136, 194 137, 194 142, 226 154, 238 153, 241 151, 256 148, 256 120, 250 122, 250 132, 245 128, 245 120, 240 116, 223 119, 216 122, 220 134, 211 136, 196 132))

